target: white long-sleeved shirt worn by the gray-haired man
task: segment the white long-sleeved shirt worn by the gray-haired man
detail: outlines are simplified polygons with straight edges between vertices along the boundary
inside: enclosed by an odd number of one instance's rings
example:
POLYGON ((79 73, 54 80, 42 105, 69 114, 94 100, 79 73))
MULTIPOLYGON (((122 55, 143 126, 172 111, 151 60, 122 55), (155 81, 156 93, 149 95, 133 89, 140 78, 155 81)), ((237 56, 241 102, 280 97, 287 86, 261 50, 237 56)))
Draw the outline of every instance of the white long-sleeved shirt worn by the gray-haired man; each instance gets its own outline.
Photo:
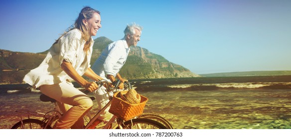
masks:
POLYGON ((107 75, 116 76, 125 64, 129 52, 126 40, 113 42, 103 50, 91 69, 104 79, 107 75))

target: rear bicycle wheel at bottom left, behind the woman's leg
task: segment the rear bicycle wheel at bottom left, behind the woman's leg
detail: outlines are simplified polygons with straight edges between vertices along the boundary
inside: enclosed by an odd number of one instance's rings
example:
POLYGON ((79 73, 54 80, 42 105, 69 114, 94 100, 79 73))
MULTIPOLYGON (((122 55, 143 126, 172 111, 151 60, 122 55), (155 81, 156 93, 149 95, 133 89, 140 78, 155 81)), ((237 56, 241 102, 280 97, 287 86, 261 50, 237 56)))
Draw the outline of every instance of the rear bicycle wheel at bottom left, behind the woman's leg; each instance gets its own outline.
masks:
MULTIPOLYGON (((11 129, 43 129, 45 124, 38 119, 24 119, 22 122, 17 122, 11 129)), ((46 129, 51 129, 51 127, 48 126, 46 129)))

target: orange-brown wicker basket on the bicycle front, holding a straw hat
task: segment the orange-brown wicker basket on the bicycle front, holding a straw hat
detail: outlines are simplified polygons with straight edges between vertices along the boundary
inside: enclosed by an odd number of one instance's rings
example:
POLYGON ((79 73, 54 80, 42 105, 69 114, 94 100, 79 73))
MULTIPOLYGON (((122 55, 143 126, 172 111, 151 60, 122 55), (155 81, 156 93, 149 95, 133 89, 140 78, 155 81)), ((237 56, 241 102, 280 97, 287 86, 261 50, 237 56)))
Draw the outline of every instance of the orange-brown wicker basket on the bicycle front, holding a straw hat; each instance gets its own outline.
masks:
POLYGON ((136 116, 143 114, 146 106, 147 98, 141 95, 141 103, 131 104, 128 101, 122 100, 120 95, 126 94, 128 91, 116 92, 113 95, 109 112, 128 121, 136 116))

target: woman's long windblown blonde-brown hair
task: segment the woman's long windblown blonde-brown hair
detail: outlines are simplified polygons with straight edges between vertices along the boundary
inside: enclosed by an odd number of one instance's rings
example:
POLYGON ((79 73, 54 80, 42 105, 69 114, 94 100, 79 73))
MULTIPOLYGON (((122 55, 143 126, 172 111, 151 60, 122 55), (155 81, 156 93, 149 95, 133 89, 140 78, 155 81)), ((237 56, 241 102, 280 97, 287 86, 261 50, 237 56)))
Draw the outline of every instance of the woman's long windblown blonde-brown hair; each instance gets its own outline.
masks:
POLYGON ((64 36, 66 33, 68 33, 69 31, 77 28, 82 32, 82 39, 86 41, 85 45, 84 45, 84 51, 88 51, 90 49, 91 46, 91 36, 88 32, 88 28, 87 26, 83 23, 83 19, 87 19, 89 20, 90 18, 93 17, 94 13, 98 13, 100 14, 100 11, 93 9, 89 6, 85 6, 84 8, 82 8, 81 12, 79 13, 78 18, 76 19, 75 23, 73 26, 70 26, 67 31, 65 31, 57 40, 54 44, 56 44, 58 42, 58 40, 64 36))

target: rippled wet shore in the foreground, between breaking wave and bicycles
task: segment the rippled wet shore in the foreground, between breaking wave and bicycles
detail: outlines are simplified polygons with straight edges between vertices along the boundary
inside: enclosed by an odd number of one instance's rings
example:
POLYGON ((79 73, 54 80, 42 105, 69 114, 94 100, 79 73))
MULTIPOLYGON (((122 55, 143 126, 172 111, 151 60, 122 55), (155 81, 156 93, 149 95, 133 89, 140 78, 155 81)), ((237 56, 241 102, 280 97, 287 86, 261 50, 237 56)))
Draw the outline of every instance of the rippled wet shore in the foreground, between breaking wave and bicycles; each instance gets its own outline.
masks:
MULTIPOLYGON (((164 117, 174 129, 291 129, 290 91, 222 89, 140 93, 149 99, 144 112, 164 117)), ((43 113, 52 109, 51 103, 39 101, 39 95, 35 92, 1 95, 0 129, 10 129, 19 121, 17 109, 43 113)), ((91 114, 98 111, 96 100, 93 102, 91 114)))

